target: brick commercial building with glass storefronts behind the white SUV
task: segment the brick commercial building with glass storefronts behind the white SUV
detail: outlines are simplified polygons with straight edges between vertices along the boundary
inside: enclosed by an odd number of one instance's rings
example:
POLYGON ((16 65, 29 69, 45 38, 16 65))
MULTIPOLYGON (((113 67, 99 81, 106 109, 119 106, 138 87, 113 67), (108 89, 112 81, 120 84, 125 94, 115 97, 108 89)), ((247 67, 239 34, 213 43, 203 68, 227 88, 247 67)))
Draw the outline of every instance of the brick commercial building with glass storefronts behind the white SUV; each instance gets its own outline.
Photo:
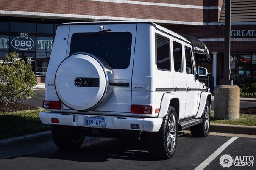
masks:
MULTIPOLYGON (((217 85, 223 78, 224 16, 225 0, 1 0, 0 61, 17 51, 33 66, 38 82, 44 82, 56 25, 148 21, 203 41, 211 60, 197 58, 197 63, 217 85), (27 40, 31 43, 22 44, 27 40)), ((230 64, 235 84, 256 82, 256 0, 231 0, 230 64)))

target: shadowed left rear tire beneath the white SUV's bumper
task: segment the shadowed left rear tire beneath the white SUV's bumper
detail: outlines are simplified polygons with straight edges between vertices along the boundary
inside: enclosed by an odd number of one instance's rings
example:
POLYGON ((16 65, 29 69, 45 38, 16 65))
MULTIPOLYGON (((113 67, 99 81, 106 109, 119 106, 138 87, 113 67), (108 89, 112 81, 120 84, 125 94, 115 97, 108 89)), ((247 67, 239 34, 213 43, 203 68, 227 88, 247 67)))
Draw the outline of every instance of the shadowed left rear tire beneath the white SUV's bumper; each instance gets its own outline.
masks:
POLYGON ((59 148, 79 148, 83 144, 85 135, 66 126, 52 125, 52 137, 59 148))

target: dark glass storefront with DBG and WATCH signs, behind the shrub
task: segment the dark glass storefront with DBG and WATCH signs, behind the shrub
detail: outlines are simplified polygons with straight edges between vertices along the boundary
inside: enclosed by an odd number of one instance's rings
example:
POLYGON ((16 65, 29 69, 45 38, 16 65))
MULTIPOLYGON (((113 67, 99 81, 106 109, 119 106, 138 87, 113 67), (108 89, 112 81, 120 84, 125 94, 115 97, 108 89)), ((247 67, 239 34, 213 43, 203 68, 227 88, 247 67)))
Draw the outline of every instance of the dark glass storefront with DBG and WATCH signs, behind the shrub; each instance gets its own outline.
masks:
POLYGON ((64 22, 70 21, 2 17, 0 63, 9 52, 17 52, 19 59, 31 65, 37 76, 45 76, 53 49, 53 34, 56 33, 56 26, 64 22))

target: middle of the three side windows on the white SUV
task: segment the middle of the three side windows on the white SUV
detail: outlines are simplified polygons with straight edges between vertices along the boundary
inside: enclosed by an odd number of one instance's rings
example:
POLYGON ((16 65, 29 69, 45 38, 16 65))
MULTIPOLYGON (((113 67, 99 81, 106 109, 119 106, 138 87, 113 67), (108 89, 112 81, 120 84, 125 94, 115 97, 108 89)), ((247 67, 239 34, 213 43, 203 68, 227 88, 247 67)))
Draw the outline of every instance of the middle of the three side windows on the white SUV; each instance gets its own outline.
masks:
POLYGON ((173 41, 173 61, 174 71, 183 72, 182 70, 182 46, 181 43, 173 41))

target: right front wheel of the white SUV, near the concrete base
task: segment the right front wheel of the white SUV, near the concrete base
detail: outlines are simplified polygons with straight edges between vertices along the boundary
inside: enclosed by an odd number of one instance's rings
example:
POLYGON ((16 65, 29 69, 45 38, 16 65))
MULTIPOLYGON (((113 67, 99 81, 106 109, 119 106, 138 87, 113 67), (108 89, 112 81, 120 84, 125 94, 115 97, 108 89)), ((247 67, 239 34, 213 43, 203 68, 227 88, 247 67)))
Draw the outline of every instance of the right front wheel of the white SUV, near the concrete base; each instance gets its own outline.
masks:
POLYGON ((209 134, 210 126, 210 104, 206 101, 202 115, 202 123, 190 127, 190 132, 193 137, 206 137, 209 134))

